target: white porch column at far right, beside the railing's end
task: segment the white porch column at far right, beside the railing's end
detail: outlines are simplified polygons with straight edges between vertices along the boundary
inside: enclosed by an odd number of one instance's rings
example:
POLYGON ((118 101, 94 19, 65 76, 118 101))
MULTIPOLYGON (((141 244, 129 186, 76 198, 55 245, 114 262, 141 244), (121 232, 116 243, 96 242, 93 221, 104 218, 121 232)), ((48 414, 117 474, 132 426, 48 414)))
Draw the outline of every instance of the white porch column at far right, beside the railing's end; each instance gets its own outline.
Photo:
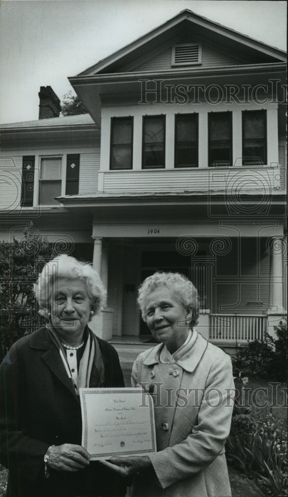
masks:
POLYGON ((269 311, 283 312, 283 248, 285 241, 281 237, 273 237, 270 253, 270 289, 269 311))

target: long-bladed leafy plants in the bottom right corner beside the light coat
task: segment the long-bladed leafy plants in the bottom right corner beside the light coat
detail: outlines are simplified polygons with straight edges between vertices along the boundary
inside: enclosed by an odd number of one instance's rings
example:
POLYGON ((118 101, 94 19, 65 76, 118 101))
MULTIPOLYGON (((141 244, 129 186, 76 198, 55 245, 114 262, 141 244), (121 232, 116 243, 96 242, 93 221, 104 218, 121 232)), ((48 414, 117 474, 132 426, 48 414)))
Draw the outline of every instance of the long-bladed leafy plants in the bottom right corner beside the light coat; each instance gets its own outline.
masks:
MULTIPOLYGON (((287 431, 272 415, 236 415, 226 442, 227 458, 272 496, 287 496, 287 431)), ((266 494, 266 495, 267 495, 266 494)))

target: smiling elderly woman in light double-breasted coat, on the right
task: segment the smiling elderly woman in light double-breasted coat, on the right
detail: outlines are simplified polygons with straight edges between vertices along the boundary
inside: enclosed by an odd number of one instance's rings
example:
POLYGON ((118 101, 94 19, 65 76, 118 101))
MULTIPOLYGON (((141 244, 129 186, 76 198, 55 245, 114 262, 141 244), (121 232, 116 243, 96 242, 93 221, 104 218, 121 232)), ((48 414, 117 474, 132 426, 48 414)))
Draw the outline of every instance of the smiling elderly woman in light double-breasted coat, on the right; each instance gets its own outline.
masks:
POLYGON ((113 457, 105 465, 133 475, 133 496, 231 496, 224 453, 233 410, 231 360, 195 330, 197 291, 185 276, 149 276, 138 304, 160 342, 132 369, 132 386, 154 397, 157 452, 113 457))

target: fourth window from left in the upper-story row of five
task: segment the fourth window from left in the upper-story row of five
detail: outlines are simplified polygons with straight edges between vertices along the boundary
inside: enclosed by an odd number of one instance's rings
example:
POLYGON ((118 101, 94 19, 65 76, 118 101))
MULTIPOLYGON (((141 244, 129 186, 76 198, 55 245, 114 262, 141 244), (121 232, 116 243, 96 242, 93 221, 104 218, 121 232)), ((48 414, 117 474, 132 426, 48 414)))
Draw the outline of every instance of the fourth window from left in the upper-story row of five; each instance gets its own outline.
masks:
POLYGON ((232 112, 208 114, 208 165, 232 166, 232 112))

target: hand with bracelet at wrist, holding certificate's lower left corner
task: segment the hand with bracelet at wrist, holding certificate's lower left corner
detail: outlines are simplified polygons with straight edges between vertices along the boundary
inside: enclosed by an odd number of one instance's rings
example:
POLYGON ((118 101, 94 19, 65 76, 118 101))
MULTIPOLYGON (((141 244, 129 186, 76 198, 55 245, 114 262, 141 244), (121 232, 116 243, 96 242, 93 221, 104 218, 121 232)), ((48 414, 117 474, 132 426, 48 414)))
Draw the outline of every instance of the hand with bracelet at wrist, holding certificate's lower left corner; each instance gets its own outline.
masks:
POLYGON ((81 445, 64 443, 51 448, 47 466, 58 471, 79 471, 88 466, 90 454, 81 445))

